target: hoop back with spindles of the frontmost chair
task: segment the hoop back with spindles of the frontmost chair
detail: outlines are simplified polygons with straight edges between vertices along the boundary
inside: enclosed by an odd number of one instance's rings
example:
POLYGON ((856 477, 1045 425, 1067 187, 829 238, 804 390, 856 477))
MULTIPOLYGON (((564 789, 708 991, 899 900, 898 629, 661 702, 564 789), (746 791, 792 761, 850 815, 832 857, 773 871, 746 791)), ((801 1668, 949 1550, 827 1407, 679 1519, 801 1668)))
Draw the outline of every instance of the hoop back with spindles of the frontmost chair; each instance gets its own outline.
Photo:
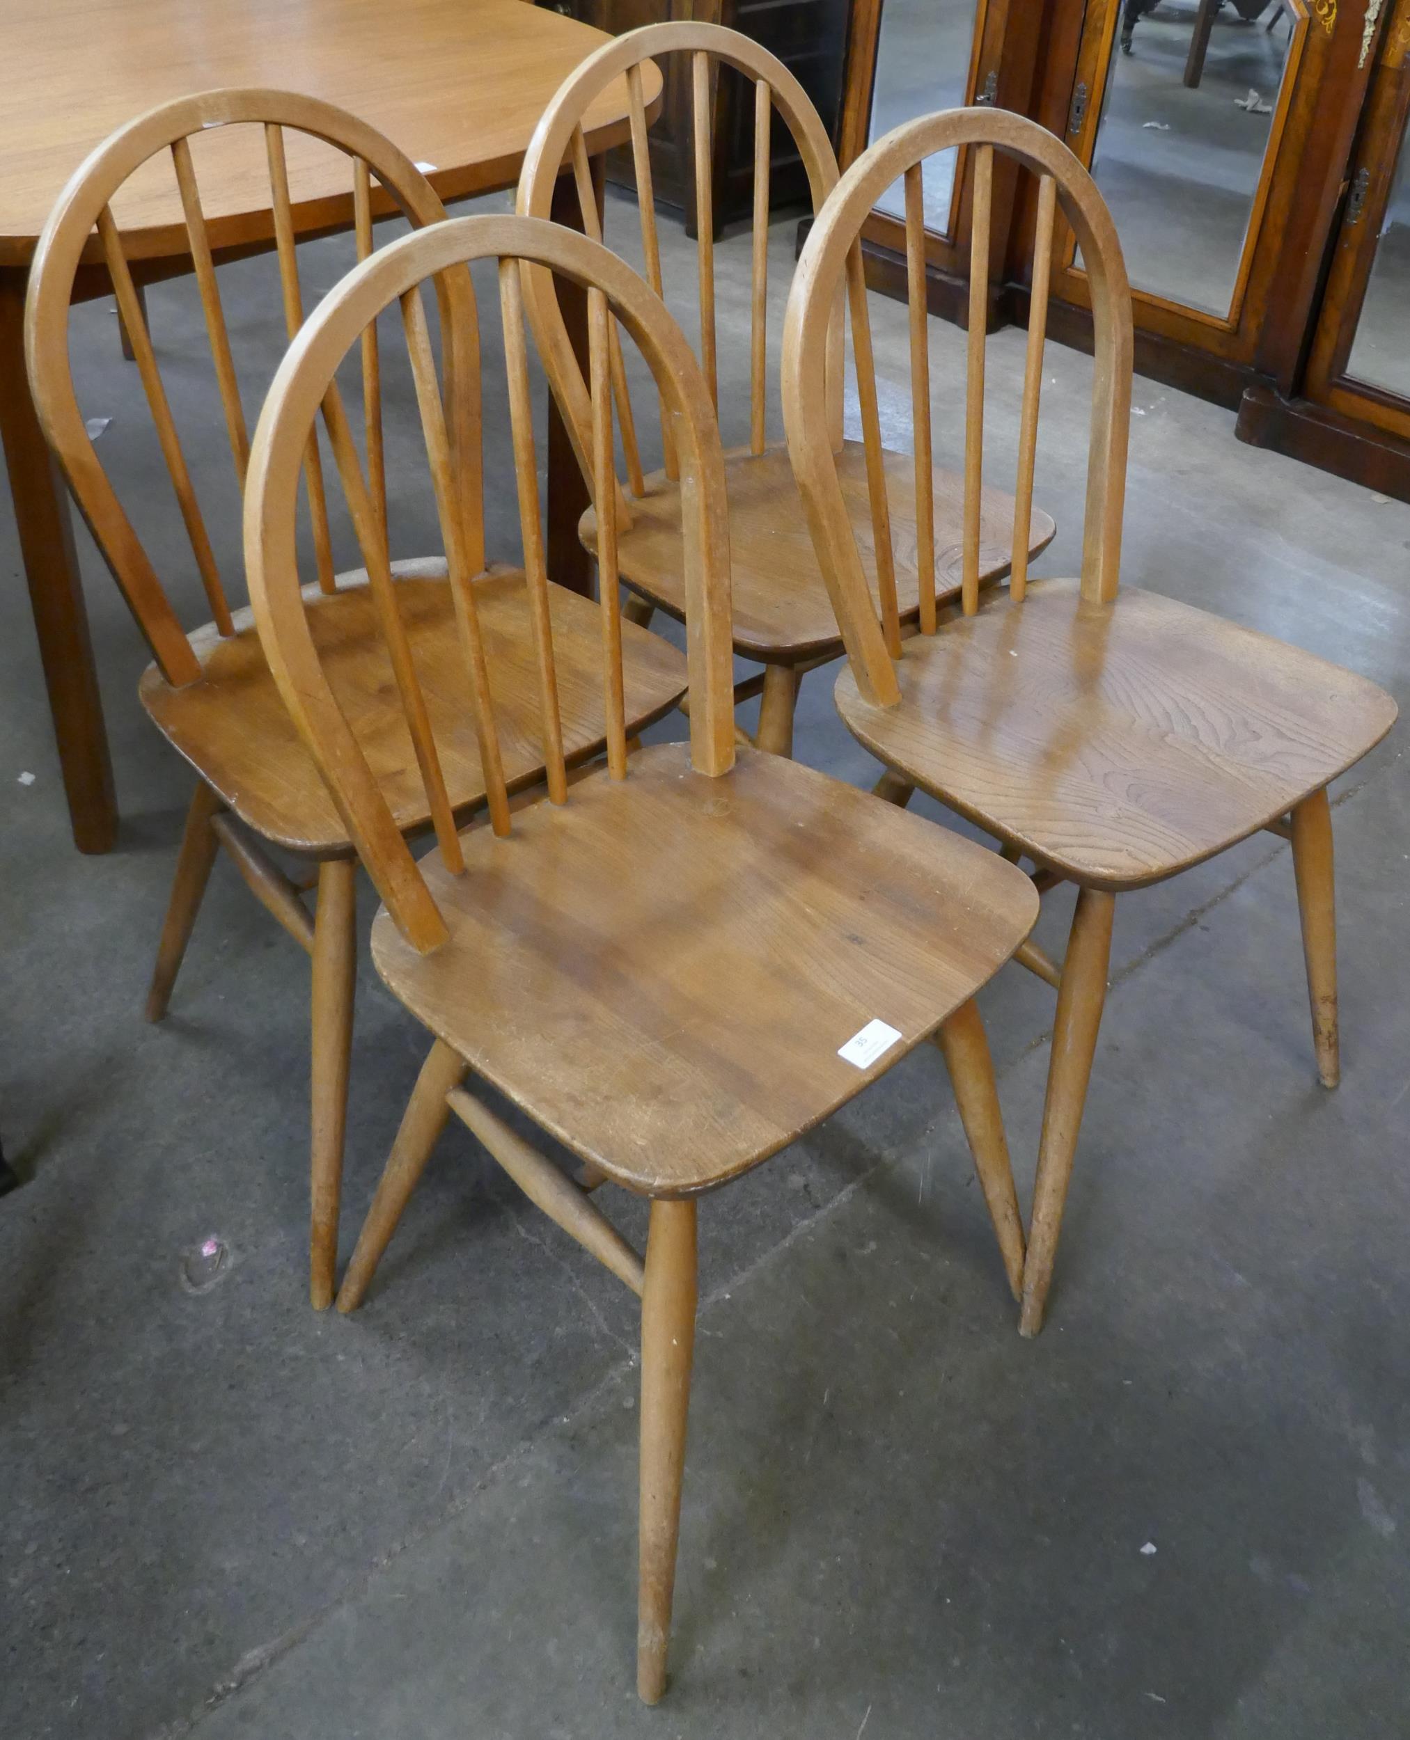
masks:
MULTIPOLYGON (((465 477, 447 440, 440 395, 435 390, 433 357, 421 313, 420 287, 453 268, 493 259, 500 266, 505 313, 505 358, 510 376, 514 456, 519 480, 520 531, 526 552, 526 583, 536 612, 536 654, 543 677, 543 729, 552 734, 555 717, 552 632, 547 626, 547 576, 541 559, 538 477, 529 419, 529 378, 524 355, 520 271, 524 264, 548 268, 588 291, 592 327, 592 425, 595 496, 604 499, 611 478, 611 386, 606 332, 614 318, 635 341, 653 372, 655 385, 670 407, 672 437, 681 456, 681 513, 686 572, 688 675, 691 689, 691 762, 705 774, 722 774, 735 760, 733 654, 729 621, 729 539, 724 499, 724 459, 714 407, 703 378, 681 329, 665 304, 625 261, 599 242, 557 224, 531 218, 458 218, 402 237, 338 284, 296 334, 275 374, 251 445, 245 487, 245 572, 259 639, 294 722, 327 783, 339 814, 366 863, 373 882, 407 941, 430 952, 446 936, 446 922, 426 882, 399 832, 362 746, 322 668, 299 592, 298 569, 298 480, 310 432, 320 409, 327 416, 334 400, 334 378, 345 355, 360 341, 378 315, 400 303, 407 345, 416 372, 416 397, 426 437, 426 459, 437 494, 447 572, 456 621, 465 651, 470 706, 480 741, 491 821, 496 833, 510 832, 508 804, 500 769, 494 705, 477 625, 472 581, 484 557, 470 555, 463 525, 470 517, 463 503, 465 477)), ((467 273, 468 282, 468 273, 467 273)), ((329 418, 329 435, 338 459, 352 519, 367 559, 374 588, 390 599, 388 640, 397 626, 393 588, 386 578, 385 529, 371 513, 360 461, 341 414, 329 418)), ((611 520, 611 517, 608 517, 611 520)), ((608 545, 609 539, 604 539, 608 545)), ((618 583, 609 548, 601 553, 601 611, 608 649, 609 764, 625 778, 621 727, 621 646, 618 583), (616 684, 613 698, 611 686, 616 684), (614 746, 613 746, 614 745, 614 746)), ((395 651, 395 649, 393 649, 395 651)), ((399 677, 399 684, 402 679, 399 677)), ((439 781, 435 743, 425 710, 418 713, 414 673, 404 689, 404 708, 426 783, 439 781)), ((562 748, 545 743, 548 795, 567 795, 562 748)), ((440 828, 442 858, 460 868, 454 835, 440 828)))

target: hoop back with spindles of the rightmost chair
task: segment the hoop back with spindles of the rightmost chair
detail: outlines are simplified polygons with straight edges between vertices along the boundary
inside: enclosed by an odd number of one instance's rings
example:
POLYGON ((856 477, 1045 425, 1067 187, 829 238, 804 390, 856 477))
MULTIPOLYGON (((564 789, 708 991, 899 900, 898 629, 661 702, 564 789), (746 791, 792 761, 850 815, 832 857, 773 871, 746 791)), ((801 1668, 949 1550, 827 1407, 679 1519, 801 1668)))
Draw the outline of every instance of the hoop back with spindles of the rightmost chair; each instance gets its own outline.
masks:
MULTIPOLYGON (((1131 398, 1131 292, 1121 244, 1097 183, 1072 151, 1032 120, 992 108, 949 110, 905 122, 888 132, 846 171, 808 237, 794 275, 783 325, 783 423, 789 454, 802 492, 808 524, 846 640, 862 694, 876 705, 900 696, 891 656, 891 625, 879 623, 843 503, 837 468, 827 442, 816 438, 825 414, 820 364, 827 324, 849 254, 881 193, 902 176, 907 191, 907 256, 910 289, 912 395, 916 470, 930 475, 930 385, 924 351, 924 252, 919 165, 935 151, 977 146, 968 157, 975 174, 975 235, 970 278, 968 404, 964 456, 964 611, 978 607, 978 512, 984 451, 984 343, 989 275, 989 186, 992 153, 1017 158, 1039 177, 1039 235, 1034 296, 1029 317, 1029 358, 1020 432, 1020 480, 1015 517, 1015 600, 1027 571, 1027 522, 1032 501, 1032 459, 1043 371, 1043 338, 1055 204, 1083 251, 1091 289, 1093 393, 1083 522, 1083 595, 1111 600, 1121 559, 1121 510, 1126 484, 1126 440, 1131 398), (890 652, 888 652, 890 646, 890 652)), ((928 498, 926 498, 928 499, 928 498)), ((917 489, 917 510, 921 494, 917 489)), ((924 536, 924 527, 917 525, 924 536)), ((884 599, 883 599, 884 606, 884 599)), ((924 600, 923 600, 924 611, 924 600)), ((933 630, 931 619, 923 626, 933 630)))

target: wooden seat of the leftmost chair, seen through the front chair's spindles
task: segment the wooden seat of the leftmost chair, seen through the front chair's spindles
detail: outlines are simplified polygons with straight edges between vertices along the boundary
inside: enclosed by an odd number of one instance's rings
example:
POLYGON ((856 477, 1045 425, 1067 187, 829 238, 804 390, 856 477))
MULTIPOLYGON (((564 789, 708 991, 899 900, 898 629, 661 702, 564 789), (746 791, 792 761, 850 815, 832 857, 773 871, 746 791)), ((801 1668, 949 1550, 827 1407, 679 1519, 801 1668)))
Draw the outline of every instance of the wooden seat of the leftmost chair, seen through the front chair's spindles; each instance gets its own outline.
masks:
MULTIPOLYGON (((446 788, 453 807, 468 813, 484 802, 484 774, 446 562, 397 562, 393 572, 446 788)), ((548 595, 564 755, 573 762, 606 741, 602 628, 590 599, 552 583, 548 595)), ((366 571, 339 574, 336 593, 306 586, 305 599, 324 670, 397 826, 423 826, 430 807, 366 571)), ((475 602, 505 780, 514 790, 543 774, 538 665, 522 571, 491 567, 475 581, 475 602)), ((230 809, 265 839, 312 856, 348 851, 346 828, 279 696, 247 609, 235 614, 235 628, 230 639, 211 625, 190 637, 202 677, 185 689, 172 689, 155 665, 148 666, 143 705, 230 809)), ((686 659, 668 640, 627 621, 621 654, 632 734, 684 694, 686 659)))

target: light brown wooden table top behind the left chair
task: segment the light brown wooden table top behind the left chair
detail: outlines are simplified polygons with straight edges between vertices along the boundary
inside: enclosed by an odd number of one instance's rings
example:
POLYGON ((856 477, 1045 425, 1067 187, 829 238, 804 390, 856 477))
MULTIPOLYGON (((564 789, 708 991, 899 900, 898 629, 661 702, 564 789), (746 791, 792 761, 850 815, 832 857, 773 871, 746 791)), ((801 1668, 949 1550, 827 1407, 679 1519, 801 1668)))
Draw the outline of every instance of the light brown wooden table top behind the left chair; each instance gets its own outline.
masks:
MULTIPOLYGON (((352 110, 435 164, 446 200, 508 186, 548 99, 606 40, 526 0, 0 0, 0 266, 28 263, 61 188, 113 129, 218 85, 352 110)), ((644 78, 653 104, 660 75, 644 78)), ((588 110, 587 137, 592 151, 627 137, 625 80, 588 110)), ((259 129, 216 129, 191 151, 212 245, 266 237, 259 129)), ((298 134, 287 155, 299 228, 346 221, 346 158, 298 134)), ((186 252, 169 162, 139 171, 113 216, 129 258, 186 252)))

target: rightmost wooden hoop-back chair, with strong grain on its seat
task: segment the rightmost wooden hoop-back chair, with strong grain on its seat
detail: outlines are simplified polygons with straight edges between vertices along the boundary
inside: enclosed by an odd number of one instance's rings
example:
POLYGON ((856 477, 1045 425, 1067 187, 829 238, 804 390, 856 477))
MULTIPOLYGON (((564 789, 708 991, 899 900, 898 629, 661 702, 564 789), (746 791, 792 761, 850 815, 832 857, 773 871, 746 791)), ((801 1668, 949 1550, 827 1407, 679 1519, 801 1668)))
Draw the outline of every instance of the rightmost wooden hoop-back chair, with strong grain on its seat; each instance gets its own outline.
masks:
MULTIPOLYGON (((914 193, 912 193, 914 198, 914 193)), ((977 221, 971 296, 984 306, 987 237, 977 221)), ((912 242, 916 230, 910 230, 912 242)), ((914 254, 912 254, 914 259, 914 254)), ((924 284, 912 270, 910 308, 924 284)), ((912 327, 923 332, 921 324, 912 327)), ((977 539, 984 440, 984 327, 968 339, 966 550, 977 539)), ((836 699, 890 771, 1029 856, 1039 889, 1074 882, 1062 964, 1025 943, 1018 959, 1057 988, 1048 1100, 1024 1272, 1022 1329, 1043 1324, 1062 1208, 1107 985, 1116 894, 1175 875, 1269 828, 1292 840, 1313 1037, 1321 1081, 1337 1084, 1337 966, 1328 781, 1389 731, 1394 701, 1325 659, 1154 592, 1118 597, 1131 386, 1131 299, 1111 212, 1065 144, 1031 120, 954 110, 909 122, 848 171, 797 268, 783 341, 783 411, 799 487, 848 644, 836 699), (971 146, 975 211, 989 209, 994 151, 1039 177, 1017 498, 1032 489, 1055 205, 1072 226, 1091 287, 1095 386, 1083 572, 1029 581, 1015 550, 1008 597, 980 597, 973 557, 963 616, 888 654, 867 592, 837 466, 816 430, 818 369, 836 285, 876 197, 921 162, 971 146)), ((924 404, 924 358, 917 364, 924 404)), ((917 452, 926 445, 917 418, 917 452)), ((895 619, 891 621, 895 630, 895 619)))

